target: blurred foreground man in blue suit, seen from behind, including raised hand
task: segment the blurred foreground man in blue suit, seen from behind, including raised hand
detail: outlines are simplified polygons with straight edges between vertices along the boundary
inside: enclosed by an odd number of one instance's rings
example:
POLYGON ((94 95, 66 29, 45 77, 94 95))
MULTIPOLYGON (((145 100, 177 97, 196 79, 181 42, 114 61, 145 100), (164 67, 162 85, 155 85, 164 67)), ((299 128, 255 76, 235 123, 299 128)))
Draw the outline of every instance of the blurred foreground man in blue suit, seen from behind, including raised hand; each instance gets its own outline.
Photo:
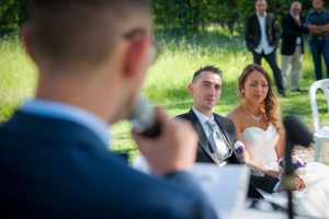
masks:
POLYGON ((0 127, 0 218, 216 218, 189 123, 158 108, 158 137, 133 130, 156 176, 107 150, 152 59, 147 0, 34 0, 22 36, 39 74, 0 127))

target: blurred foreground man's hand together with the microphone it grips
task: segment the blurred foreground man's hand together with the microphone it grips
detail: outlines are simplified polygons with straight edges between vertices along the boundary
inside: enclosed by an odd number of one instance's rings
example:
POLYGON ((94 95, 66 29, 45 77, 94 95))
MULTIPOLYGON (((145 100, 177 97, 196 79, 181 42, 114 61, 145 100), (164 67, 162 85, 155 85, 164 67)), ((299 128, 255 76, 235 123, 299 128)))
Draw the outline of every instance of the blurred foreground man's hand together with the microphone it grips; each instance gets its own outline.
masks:
POLYGON ((135 117, 129 116, 128 118, 133 123, 133 138, 148 161, 151 171, 158 175, 164 175, 170 172, 191 170, 197 146, 196 134, 192 125, 184 120, 171 119, 164 110, 149 107, 149 103, 146 104, 145 100, 140 100, 136 107, 141 107, 138 112, 143 113, 133 113, 131 115, 135 115, 135 117), (152 122, 145 122, 148 119, 152 122), (140 123, 141 120, 143 123, 140 123), (148 124, 145 126, 148 128, 139 128, 138 124, 148 124), (151 128, 155 127, 154 124, 157 124, 158 127, 151 128), (147 132, 157 132, 157 135, 145 135, 145 131, 149 129, 152 130, 147 132))

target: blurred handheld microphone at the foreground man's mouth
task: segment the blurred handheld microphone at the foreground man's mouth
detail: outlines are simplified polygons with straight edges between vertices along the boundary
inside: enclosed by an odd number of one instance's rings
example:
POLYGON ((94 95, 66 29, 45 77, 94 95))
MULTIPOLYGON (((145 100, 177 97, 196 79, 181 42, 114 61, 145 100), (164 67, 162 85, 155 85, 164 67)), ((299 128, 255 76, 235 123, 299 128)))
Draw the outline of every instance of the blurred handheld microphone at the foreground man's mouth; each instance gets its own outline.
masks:
POLYGON ((141 95, 127 119, 133 124, 133 128, 145 137, 156 138, 161 132, 161 124, 156 117, 155 108, 141 95))

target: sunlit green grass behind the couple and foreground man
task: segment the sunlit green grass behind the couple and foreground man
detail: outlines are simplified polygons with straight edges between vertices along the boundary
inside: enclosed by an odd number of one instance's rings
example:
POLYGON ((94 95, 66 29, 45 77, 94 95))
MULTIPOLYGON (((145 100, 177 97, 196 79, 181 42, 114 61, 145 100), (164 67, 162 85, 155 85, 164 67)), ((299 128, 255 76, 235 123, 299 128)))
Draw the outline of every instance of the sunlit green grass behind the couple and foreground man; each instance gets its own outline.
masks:
MULTIPOLYGON (((143 93, 154 104, 164 106, 171 116, 184 113, 192 105, 188 84, 193 72, 202 66, 215 65, 224 72, 223 93, 215 112, 226 115, 238 103, 237 78, 243 67, 252 61, 252 57, 245 48, 241 37, 224 33, 225 30, 209 28, 208 32, 197 35, 157 34, 161 54, 149 69, 143 93)), ((272 76, 264 60, 263 64, 272 76)), ((300 88, 308 91, 314 80, 313 61, 306 46, 300 88)), ((33 95, 35 81, 36 69, 24 55, 18 39, 0 39, 0 122, 12 114, 22 99, 33 95)), ((308 92, 300 95, 288 92, 287 95, 288 97, 281 99, 282 114, 299 115, 313 128, 308 92)), ((320 114, 329 125, 325 103, 320 105, 320 114)), ((135 155, 137 152, 134 150, 135 143, 131 139, 129 129, 127 122, 112 126, 111 148, 116 151, 129 151, 131 155, 135 155)))

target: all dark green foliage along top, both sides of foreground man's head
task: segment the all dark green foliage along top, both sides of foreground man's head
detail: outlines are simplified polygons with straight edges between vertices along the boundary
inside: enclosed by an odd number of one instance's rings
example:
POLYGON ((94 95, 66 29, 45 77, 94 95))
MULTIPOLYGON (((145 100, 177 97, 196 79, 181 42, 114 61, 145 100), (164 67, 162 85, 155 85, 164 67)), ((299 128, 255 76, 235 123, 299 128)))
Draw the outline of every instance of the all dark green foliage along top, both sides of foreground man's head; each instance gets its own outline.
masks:
MULTIPOLYGON (((18 28, 27 19, 29 0, 0 0, 0 35, 18 28)), ((268 0, 269 11, 280 18, 288 12, 290 0, 268 0)), ((309 0, 300 1, 303 13, 310 9, 309 0)), ((246 18, 254 12, 254 0, 151 0, 156 30, 198 32, 216 24, 229 33, 243 31, 246 18)))

